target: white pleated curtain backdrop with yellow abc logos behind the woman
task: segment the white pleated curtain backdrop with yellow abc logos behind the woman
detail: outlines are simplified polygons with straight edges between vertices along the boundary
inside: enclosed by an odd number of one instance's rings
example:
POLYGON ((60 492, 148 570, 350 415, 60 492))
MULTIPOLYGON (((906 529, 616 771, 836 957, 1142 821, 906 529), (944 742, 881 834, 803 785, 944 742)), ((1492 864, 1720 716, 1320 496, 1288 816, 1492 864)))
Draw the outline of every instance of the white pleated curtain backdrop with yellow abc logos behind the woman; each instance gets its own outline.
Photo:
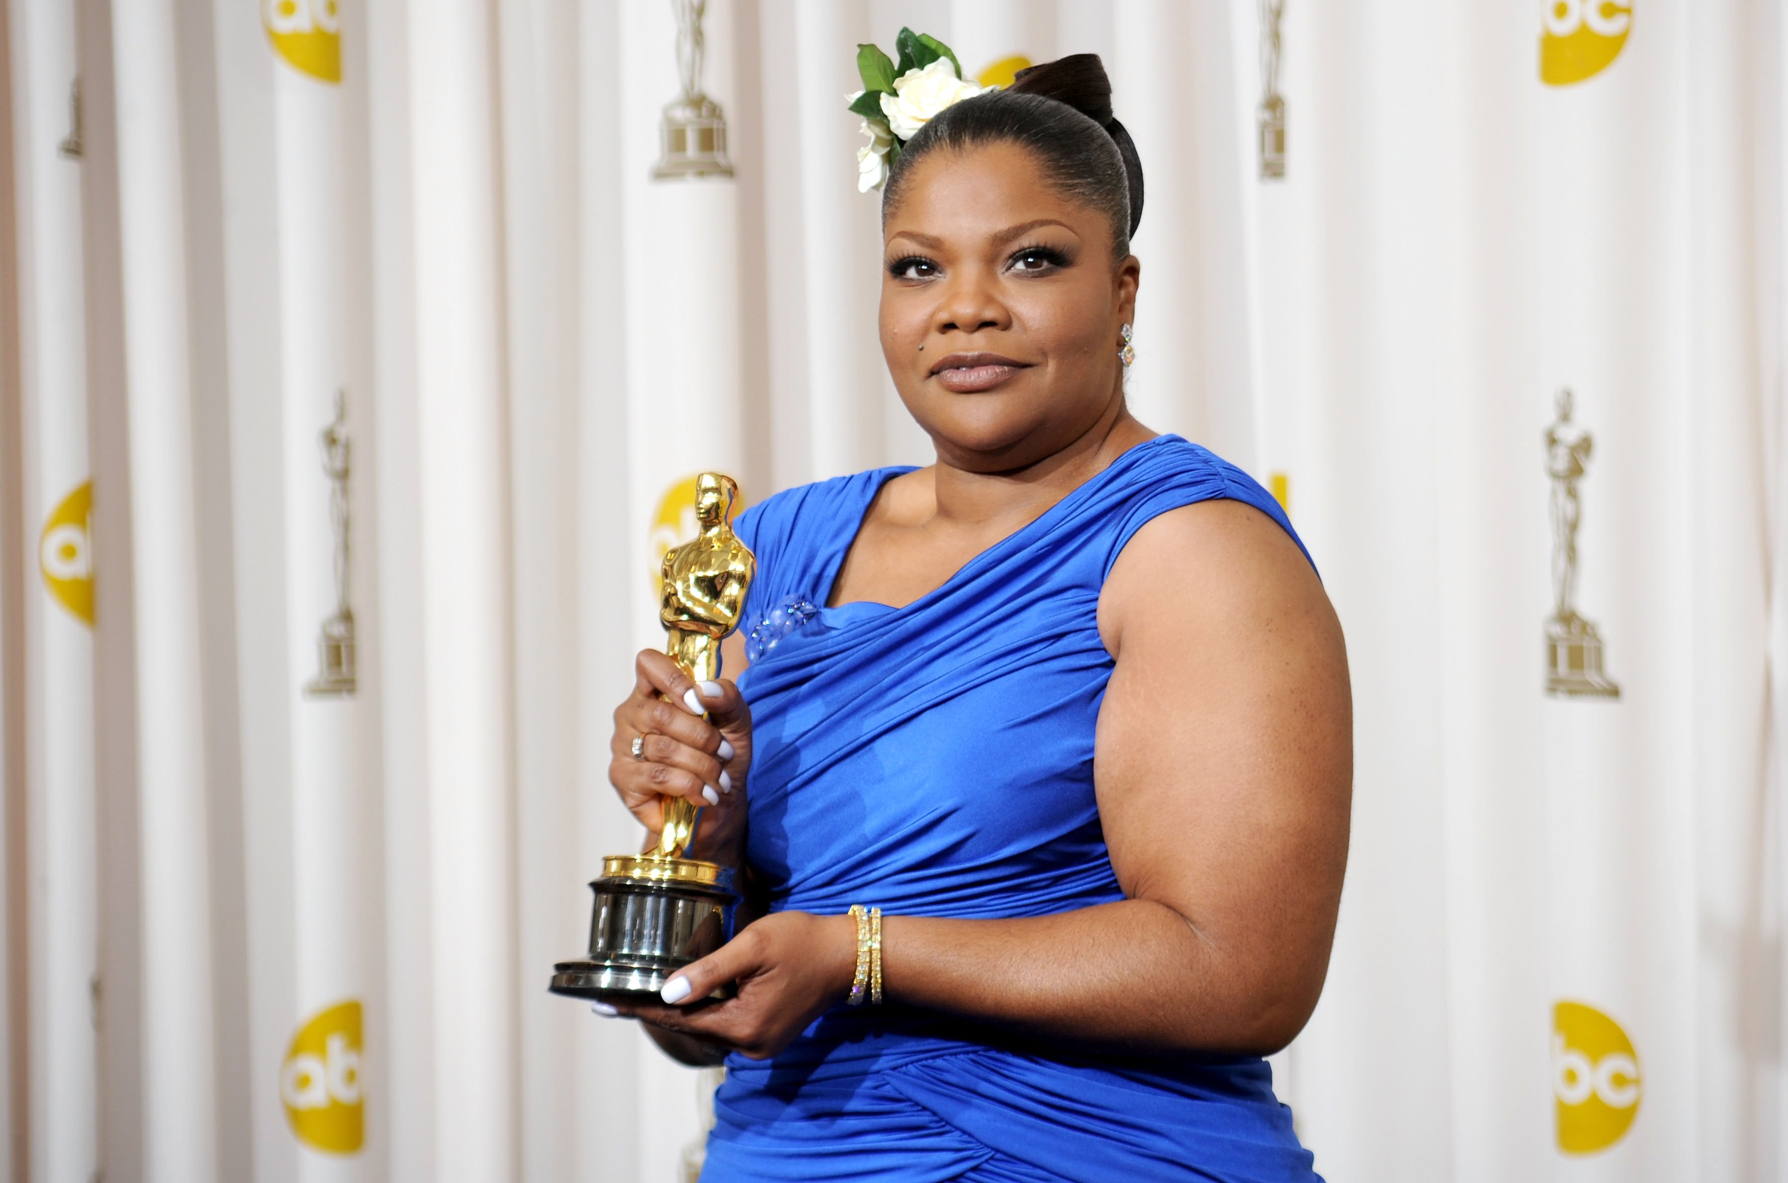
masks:
POLYGON ((687 478, 928 458, 842 109, 905 23, 1105 55, 1135 408, 1348 632, 1318 1169, 1788 1179, 1781 5, 713 0, 688 181, 672 0, 4 11, 9 1178, 685 1178, 712 1077, 545 979, 687 478))

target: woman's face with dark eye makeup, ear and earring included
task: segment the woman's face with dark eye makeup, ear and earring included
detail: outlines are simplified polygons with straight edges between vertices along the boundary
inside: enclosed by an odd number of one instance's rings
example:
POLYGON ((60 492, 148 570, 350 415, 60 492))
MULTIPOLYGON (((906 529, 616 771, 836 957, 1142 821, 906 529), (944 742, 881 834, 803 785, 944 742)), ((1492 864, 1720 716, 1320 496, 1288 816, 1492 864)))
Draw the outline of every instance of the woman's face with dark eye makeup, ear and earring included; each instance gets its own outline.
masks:
POLYGON ((1141 265, 1025 149, 937 150, 887 213, 881 353, 939 460, 978 472, 1062 451, 1123 399, 1141 265))

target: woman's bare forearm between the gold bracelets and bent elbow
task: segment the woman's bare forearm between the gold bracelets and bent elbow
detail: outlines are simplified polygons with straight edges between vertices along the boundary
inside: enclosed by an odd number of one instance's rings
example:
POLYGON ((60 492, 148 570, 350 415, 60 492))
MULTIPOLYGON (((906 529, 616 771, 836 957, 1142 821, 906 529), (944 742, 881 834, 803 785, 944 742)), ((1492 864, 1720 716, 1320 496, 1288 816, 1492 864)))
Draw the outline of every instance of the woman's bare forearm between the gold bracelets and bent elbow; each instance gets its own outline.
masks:
POLYGON ((1268 1054, 1321 986, 1225 956, 1151 900, 1019 920, 887 916, 881 949, 890 1000, 1101 1049, 1268 1054))

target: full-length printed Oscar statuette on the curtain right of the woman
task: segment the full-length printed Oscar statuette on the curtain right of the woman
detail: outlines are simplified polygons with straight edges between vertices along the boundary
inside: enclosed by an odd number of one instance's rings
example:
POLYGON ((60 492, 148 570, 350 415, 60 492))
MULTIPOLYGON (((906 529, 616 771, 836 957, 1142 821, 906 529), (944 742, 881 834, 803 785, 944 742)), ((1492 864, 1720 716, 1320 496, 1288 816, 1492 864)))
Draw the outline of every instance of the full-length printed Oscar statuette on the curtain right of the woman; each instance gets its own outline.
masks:
POLYGON ((1590 465, 1590 433, 1572 426, 1572 394, 1559 390, 1557 419, 1547 428, 1547 476, 1552 478, 1552 619, 1547 621, 1547 693, 1572 698, 1620 698, 1602 673, 1602 634, 1577 614, 1579 481, 1590 465))

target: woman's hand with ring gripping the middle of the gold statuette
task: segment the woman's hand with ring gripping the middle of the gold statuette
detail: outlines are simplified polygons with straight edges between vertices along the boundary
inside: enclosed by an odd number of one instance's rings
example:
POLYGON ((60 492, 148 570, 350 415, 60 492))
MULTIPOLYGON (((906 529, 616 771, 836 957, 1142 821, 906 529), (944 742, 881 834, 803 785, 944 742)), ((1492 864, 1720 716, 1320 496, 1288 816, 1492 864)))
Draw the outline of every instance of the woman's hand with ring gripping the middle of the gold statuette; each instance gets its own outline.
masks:
POLYGON ((687 796, 703 809, 688 855, 737 863, 751 770, 751 707, 733 682, 697 684, 656 650, 642 650, 633 669, 633 693, 615 707, 610 782, 653 834, 663 830, 663 798, 687 796), (642 737, 638 757, 635 737, 642 737))

